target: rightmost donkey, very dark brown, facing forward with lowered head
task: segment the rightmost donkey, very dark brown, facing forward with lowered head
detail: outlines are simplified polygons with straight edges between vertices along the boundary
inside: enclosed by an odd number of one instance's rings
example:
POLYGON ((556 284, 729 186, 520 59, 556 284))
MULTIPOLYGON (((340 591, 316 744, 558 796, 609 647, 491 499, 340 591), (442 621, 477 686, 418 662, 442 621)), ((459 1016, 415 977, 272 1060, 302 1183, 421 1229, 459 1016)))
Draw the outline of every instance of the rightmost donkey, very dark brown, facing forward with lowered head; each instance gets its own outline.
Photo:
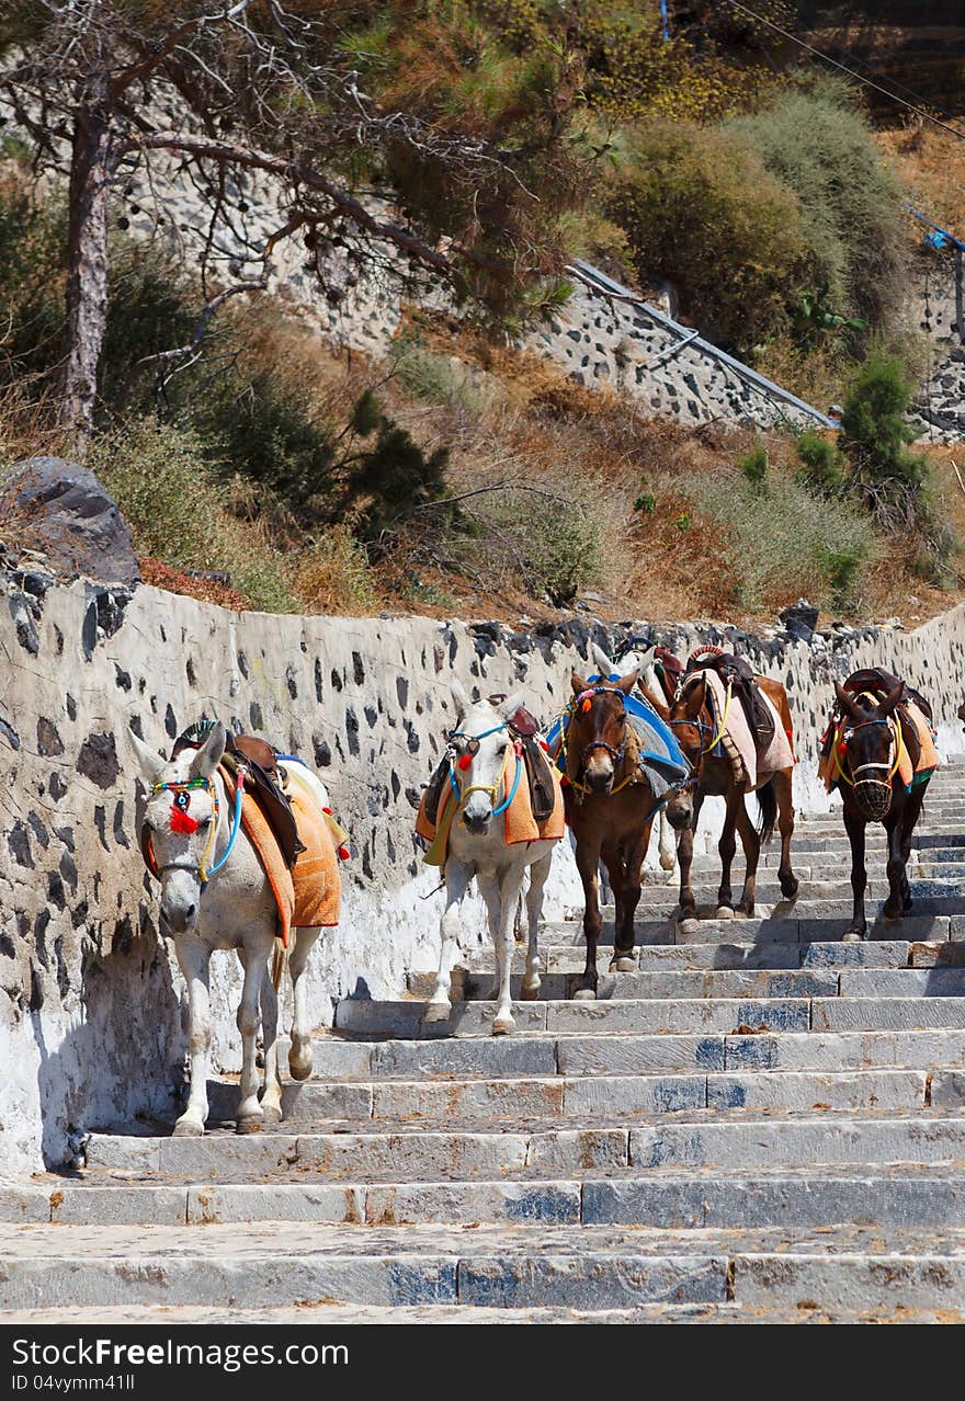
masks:
MULTIPOLYGON (((903 681, 884 699, 870 692, 854 693, 857 677, 868 672, 854 672, 843 686, 835 682, 838 716, 825 733, 824 762, 833 765, 832 783, 840 790, 845 804, 845 831, 852 843, 852 891, 854 909, 852 922, 842 934, 847 943, 864 939, 868 922, 864 918, 864 891, 868 884, 864 867, 864 836, 868 822, 881 822, 888 834, 888 899, 882 913, 885 919, 901 919, 912 911, 912 888, 908 883, 908 857, 912 850, 912 834, 922 811, 924 792, 931 778, 926 771, 910 787, 898 778, 898 761, 903 745, 910 761, 912 773, 917 773, 922 757, 922 741, 908 712, 902 708, 906 698, 903 681)), ((917 692, 915 699, 926 719, 931 719, 931 708, 917 692)))

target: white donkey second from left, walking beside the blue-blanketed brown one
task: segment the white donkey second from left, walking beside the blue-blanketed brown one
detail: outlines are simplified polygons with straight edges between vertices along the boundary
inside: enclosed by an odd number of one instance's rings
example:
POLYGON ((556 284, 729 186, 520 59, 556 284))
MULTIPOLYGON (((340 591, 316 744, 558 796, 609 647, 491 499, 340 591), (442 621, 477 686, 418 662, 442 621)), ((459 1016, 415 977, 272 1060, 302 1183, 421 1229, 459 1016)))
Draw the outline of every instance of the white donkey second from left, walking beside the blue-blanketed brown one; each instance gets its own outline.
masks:
POLYGON ((450 828, 443 948, 436 988, 426 1007, 426 1021, 448 1021, 452 1016, 450 1002, 452 944, 459 932, 466 892, 475 876, 479 894, 486 901, 489 930, 496 946, 493 1035, 504 1035, 515 1031, 510 995, 515 944, 513 925, 527 869, 529 870, 527 891, 529 943, 522 975, 522 998, 531 1002, 539 996, 539 916, 556 842, 518 842, 507 846, 504 824, 500 820, 517 778, 522 783, 527 782, 525 775, 518 771, 521 761, 511 762, 513 737, 507 729, 508 720, 522 705, 522 692, 508 696, 499 706, 485 700, 473 705, 462 684, 454 679, 452 699, 457 715, 448 752, 451 782, 458 789, 459 807, 450 828), (461 759, 465 768, 459 764, 461 759))

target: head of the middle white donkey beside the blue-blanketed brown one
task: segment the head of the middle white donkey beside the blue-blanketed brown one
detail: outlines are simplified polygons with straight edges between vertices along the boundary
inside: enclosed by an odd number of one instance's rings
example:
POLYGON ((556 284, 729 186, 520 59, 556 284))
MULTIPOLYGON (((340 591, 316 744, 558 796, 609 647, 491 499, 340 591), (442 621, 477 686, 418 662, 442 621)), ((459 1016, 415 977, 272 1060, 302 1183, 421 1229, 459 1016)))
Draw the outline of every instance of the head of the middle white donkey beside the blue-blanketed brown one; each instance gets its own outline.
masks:
POLYGON ((471 700, 461 681, 452 679, 455 724, 450 731, 452 780, 459 793, 459 821, 476 836, 489 831, 493 810, 508 796, 513 783, 510 757, 514 738, 508 722, 525 696, 518 691, 499 705, 471 700))

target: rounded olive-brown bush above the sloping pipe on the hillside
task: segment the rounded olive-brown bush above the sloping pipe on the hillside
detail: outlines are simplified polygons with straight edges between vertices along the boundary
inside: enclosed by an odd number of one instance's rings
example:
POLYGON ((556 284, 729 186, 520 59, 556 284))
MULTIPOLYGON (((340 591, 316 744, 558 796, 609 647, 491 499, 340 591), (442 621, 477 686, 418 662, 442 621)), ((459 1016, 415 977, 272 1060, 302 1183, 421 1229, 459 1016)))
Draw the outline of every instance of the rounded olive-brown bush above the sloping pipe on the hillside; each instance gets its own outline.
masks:
POLYGON ((747 354, 786 324, 807 258, 801 212, 735 136, 648 122, 633 136, 608 212, 641 282, 669 279, 711 339, 747 354))

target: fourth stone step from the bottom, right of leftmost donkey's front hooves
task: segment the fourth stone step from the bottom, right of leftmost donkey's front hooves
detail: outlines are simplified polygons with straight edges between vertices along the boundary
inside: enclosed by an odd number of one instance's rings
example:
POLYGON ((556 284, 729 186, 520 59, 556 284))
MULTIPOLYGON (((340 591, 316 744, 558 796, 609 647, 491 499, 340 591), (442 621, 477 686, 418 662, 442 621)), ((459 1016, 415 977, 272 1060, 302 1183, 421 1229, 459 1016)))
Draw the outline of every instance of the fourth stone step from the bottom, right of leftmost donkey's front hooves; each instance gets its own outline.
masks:
MULTIPOLYGON (((951 1108, 965 1103, 962 1077, 941 1070, 859 1070, 850 1073, 542 1076, 539 1079, 388 1080, 345 1084, 286 1084, 284 1126, 325 1128, 405 1119, 422 1124, 534 1119, 550 1115, 672 1114, 700 1108, 832 1110, 923 1108, 926 1100, 951 1108)), ((237 1083, 209 1087, 210 1124, 234 1121, 237 1083)), ((0 1206, 0 1209, 3 1209, 0 1206)))

